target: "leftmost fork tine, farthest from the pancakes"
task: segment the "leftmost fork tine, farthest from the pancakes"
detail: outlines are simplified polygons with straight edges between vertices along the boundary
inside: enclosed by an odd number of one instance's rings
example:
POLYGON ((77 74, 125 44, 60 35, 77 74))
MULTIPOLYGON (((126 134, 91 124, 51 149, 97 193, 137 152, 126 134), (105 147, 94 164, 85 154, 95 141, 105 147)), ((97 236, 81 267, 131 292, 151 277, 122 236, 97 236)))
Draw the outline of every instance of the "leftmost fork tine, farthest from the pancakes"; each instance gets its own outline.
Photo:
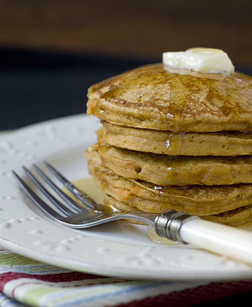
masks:
POLYGON ((64 217, 60 216, 56 211, 54 211, 51 207, 49 207, 41 198, 37 196, 25 183, 23 179, 19 177, 19 175, 13 170, 13 174, 18 179, 21 188, 23 191, 32 199, 32 201, 37 205, 37 207, 42 210, 46 215, 49 215, 53 219, 64 219, 64 217))

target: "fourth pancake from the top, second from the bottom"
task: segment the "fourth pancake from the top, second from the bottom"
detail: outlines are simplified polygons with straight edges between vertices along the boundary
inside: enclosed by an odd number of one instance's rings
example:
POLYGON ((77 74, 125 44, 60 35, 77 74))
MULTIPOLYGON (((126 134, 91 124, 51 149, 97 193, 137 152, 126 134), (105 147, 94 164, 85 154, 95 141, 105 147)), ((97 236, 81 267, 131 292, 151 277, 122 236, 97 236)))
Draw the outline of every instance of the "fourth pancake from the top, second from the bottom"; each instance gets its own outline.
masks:
POLYGON ((168 209, 193 215, 213 215, 252 203, 252 184, 223 186, 157 186, 151 182, 116 175, 101 165, 96 151, 86 152, 89 172, 107 195, 141 211, 161 213, 168 209))

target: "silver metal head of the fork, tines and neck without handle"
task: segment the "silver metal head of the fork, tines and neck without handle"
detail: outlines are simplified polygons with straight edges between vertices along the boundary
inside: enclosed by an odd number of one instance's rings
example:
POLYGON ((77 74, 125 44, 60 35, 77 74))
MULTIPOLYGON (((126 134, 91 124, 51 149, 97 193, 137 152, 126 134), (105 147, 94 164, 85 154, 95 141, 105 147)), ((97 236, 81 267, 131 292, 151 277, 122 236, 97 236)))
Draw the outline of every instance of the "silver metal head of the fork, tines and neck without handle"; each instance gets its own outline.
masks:
MULTIPOLYGON (((36 165, 34 169, 40 175, 40 177, 47 183, 47 185, 67 204, 63 204, 58 201, 47 189, 45 189, 41 183, 36 179, 36 177, 26 168, 23 167, 27 176, 31 179, 38 190, 50 201, 50 203, 55 206, 54 210, 51 206, 48 206, 28 185, 27 183, 15 172, 14 175, 17 177, 22 190, 30 197, 36 208, 43 214, 44 217, 53 220, 55 223, 60 225, 65 225, 71 228, 85 228, 105 223, 115 219, 135 219, 147 224, 154 225, 154 220, 156 214, 146 213, 142 211, 136 211, 131 213, 118 213, 113 212, 112 209, 97 204, 91 198, 87 197, 87 194, 73 185, 67 178, 62 176, 55 168, 53 168, 49 163, 45 162, 46 167, 51 171, 51 173, 56 176, 61 183, 75 196, 81 197, 84 195, 84 202, 81 206, 71 197, 62 192, 55 183, 36 165), (89 200, 86 203, 85 200, 89 200), (92 208, 90 208, 92 206, 92 208)), ((78 197, 78 199, 80 199, 78 197)), ((83 200, 83 199, 82 199, 83 200)))

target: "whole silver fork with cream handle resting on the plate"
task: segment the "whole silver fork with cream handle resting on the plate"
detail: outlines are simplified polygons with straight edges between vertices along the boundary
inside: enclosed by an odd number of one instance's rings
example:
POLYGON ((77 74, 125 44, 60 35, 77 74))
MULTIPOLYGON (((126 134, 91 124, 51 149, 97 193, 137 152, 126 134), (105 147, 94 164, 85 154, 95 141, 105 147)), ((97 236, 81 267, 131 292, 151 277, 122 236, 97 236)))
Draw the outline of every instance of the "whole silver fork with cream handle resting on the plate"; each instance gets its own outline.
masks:
POLYGON ((21 189, 33 201, 34 209, 38 209, 43 217, 57 225, 80 229, 118 219, 133 219, 154 227, 161 237, 183 244, 192 243, 205 250, 252 265, 252 232, 250 231, 213 223, 175 210, 167 210, 161 214, 142 211, 115 212, 104 205, 97 204, 48 162, 44 161, 44 164, 50 173, 82 202, 82 205, 59 189, 35 164, 33 165, 35 171, 66 204, 58 201, 26 167, 23 166, 23 169, 27 176, 55 209, 45 203, 15 171, 13 173, 21 189))

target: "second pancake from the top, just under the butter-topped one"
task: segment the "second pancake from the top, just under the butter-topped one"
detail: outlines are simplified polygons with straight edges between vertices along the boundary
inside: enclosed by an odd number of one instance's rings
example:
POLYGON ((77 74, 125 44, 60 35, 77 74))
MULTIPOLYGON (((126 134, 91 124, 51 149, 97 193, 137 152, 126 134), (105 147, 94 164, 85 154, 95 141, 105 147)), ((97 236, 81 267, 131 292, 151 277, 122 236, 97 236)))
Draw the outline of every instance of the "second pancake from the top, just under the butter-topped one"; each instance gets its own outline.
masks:
POLYGON ((252 133, 179 132, 118 126, 102 121, 104 138, 110 145, 166 155, 237 156, 252 154, 252 133))

